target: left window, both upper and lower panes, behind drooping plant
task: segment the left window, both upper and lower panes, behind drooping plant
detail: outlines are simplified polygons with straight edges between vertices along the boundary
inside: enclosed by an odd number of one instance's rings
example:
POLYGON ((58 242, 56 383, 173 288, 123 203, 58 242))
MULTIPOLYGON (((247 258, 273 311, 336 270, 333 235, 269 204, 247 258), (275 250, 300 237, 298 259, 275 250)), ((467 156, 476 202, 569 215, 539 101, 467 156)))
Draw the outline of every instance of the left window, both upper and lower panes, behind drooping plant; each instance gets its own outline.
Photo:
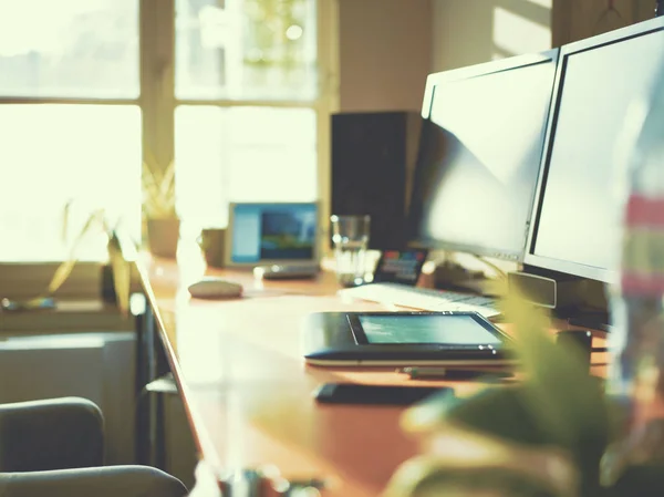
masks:
POLYGON ((71 200, 138 232, 138 0, 0 0, 0 261, 66 258, 71 200))

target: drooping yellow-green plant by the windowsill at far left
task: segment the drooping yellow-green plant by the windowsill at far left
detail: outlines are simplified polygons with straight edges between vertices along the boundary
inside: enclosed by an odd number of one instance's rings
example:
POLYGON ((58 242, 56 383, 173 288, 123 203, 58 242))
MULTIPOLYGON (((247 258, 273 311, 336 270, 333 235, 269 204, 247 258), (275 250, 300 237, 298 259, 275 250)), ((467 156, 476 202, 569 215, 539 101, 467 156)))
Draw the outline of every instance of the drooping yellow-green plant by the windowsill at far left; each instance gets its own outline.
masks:
MULTIPOLYGON (((70 241, 70 224, 75 204, 76 203, 73 200, 70 200, 63 210, 62 237, 63 241, 69 245, 66 260, 58 267, 42 294, 24 301, 2 299, 2 310, 32 311, 56 308, 56 301, 54 299, 55 292, 71 276, 74 266, 79 261, 79 250, 89 238, 104 235, 107 240, 106 248, 108 251, 108 263, 113 279, 115 302, 123 314, 128 312, 131 268, 123 257, 116 229, 118 222, 112 222, 106 210, 103 208, 89 209, 90 214, 87 215, 85 222, 83 222, 81 230, 70 241)), ((102 269, 104 269, 104 267, 102 269)))

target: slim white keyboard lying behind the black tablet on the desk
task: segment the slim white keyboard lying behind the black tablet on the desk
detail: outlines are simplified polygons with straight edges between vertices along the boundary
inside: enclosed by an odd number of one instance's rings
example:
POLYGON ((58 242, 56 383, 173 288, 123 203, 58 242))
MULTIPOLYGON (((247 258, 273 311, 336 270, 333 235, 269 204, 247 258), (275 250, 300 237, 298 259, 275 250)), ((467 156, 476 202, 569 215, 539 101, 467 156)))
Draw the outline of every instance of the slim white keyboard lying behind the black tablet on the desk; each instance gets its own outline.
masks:
POLYGON ((424 311, 475 311, 485 318, 500 314, 496 299, 400 283, 370 283, 339 290, 340 296, 424 311))

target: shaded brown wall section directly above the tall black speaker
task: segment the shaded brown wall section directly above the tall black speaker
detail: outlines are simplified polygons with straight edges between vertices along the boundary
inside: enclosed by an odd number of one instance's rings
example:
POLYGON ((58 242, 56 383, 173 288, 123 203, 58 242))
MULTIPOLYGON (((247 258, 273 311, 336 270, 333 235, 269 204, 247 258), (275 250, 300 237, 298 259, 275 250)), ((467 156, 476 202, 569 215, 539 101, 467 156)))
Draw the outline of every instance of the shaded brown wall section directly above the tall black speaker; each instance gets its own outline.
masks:
POLYGON ((419 111, 434 46, 432 7, 339 0, 341 112, 419 111))

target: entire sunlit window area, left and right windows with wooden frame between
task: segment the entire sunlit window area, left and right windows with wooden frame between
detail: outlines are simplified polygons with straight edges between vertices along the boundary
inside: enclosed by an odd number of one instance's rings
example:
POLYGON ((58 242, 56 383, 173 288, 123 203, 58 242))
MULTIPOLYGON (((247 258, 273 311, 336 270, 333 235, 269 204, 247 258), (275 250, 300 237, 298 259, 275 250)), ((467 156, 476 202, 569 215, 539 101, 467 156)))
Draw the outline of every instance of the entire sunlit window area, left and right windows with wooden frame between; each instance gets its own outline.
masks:
POLYGON ((71 200, 72 231, 104 208, 139 239, 147 154, 175 161, 184 235, 324 199, 334 1, 0 0, 0 262, 68 257, 71 200))

